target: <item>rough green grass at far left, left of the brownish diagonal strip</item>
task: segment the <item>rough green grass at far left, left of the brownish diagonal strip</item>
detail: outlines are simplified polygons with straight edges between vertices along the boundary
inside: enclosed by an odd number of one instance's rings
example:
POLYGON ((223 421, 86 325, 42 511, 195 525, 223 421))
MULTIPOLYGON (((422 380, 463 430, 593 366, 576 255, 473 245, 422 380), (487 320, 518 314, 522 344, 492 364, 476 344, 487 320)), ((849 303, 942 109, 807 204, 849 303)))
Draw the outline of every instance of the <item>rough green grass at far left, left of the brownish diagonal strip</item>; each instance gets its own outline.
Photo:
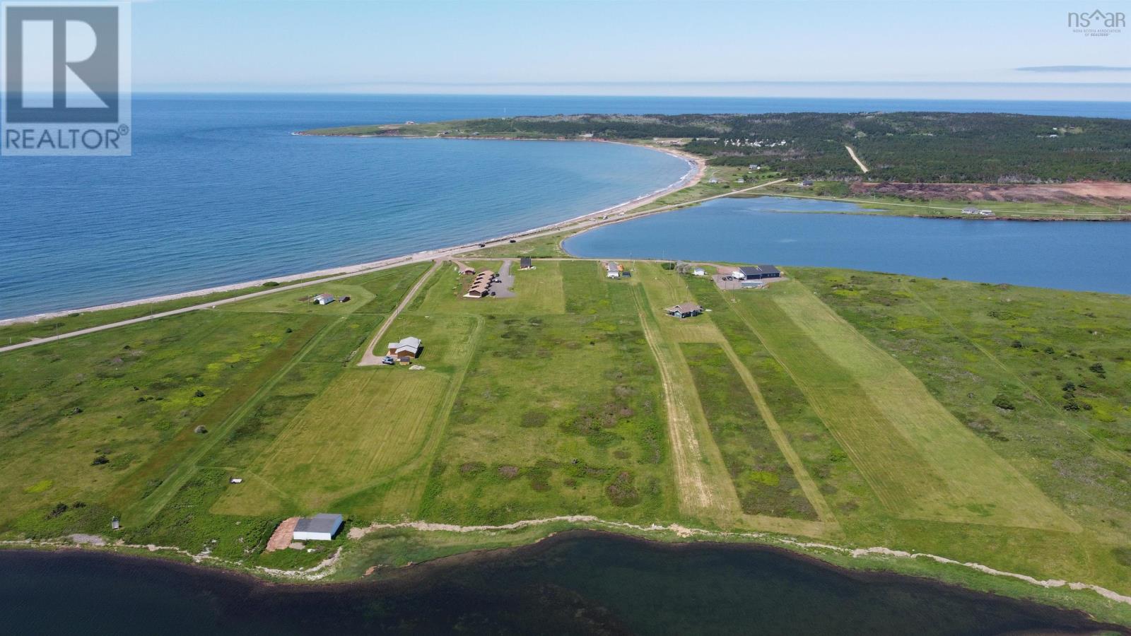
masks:
POLYGON ((301 324, 193 312, 0 355, 0 527, 60 501, 105 500, 155 452, 196 444, 197 423, 301 324))

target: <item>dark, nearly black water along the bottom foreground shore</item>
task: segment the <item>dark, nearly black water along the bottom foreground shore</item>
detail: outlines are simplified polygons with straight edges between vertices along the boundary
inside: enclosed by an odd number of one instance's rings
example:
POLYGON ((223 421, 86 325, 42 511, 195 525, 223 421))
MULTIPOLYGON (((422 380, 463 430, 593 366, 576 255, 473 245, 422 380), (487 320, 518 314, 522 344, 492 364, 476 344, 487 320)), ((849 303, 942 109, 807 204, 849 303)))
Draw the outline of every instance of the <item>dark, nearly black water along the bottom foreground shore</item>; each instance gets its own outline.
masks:
POLYGON ((1081 633, 1082 614, 750 547, 568 533, 402 570, 273 586, 139 558, 0 552, 9 634, 1081 633))

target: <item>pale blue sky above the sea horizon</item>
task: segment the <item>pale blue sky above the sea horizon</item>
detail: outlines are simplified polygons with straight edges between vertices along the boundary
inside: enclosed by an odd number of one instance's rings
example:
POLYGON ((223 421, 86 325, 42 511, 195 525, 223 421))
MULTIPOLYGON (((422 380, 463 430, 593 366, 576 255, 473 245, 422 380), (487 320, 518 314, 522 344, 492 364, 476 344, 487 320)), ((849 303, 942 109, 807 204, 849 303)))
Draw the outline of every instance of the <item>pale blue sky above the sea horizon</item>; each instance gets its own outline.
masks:
POLYGON ((133 87, 1131 101, 1131 29, 1067 24, 1131 3, 1081 2, 154 0, 133 87))

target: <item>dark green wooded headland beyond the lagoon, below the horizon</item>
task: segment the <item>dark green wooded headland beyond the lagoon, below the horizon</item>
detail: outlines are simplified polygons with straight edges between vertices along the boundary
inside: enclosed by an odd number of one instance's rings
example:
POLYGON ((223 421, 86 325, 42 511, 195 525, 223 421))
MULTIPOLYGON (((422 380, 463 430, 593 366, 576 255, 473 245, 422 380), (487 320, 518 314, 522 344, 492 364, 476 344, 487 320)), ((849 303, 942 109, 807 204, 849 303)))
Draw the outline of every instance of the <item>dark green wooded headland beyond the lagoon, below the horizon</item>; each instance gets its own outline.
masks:
POLYGON ((470 120, 459 124, 481 135, 691 138, 684 148, 710 157, 711 164, 753 163, 796 178, 908 182, 1131 181, 1131 120, 1121 119, 877 112, 554 115, 470 120), (845 151, 846 144, 871 172, 861 173, 845 151))

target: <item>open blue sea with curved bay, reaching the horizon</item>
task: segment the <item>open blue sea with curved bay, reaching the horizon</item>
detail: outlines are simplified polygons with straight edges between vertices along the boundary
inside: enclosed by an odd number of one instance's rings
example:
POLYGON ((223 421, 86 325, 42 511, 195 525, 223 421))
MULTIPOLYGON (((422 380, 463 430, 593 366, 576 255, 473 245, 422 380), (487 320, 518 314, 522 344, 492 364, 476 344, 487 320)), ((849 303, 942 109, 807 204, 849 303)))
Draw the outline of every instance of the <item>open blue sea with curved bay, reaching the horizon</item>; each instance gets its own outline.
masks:
POLYGON ((0 318, 377 260, 570 218, 685 164, 610 144, 291 132, 554 113, 999 111, 1131 117, 1110 102, 136 95, 133 156, 0 157, 0 318))

